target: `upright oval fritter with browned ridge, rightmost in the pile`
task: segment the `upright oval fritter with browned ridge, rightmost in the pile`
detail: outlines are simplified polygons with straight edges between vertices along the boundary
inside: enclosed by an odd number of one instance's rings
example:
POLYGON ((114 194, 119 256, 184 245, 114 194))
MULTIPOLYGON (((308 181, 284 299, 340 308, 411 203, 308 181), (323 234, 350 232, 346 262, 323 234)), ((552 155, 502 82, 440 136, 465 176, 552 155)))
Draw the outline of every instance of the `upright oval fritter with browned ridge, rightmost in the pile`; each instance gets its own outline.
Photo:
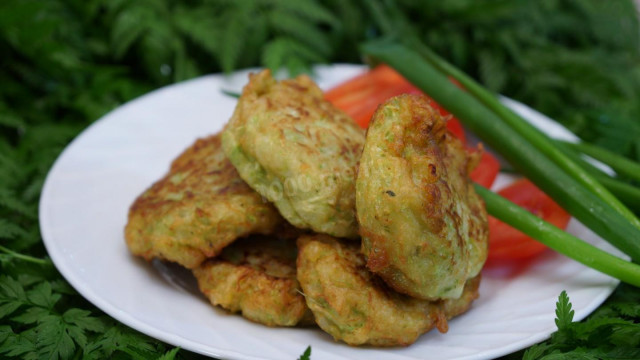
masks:
POLYGON ((487 214, 468 177, 476 162, 425 97, 381 105, 356 182, 367 267, 413 297, 460 297, 487 256, 487 214))

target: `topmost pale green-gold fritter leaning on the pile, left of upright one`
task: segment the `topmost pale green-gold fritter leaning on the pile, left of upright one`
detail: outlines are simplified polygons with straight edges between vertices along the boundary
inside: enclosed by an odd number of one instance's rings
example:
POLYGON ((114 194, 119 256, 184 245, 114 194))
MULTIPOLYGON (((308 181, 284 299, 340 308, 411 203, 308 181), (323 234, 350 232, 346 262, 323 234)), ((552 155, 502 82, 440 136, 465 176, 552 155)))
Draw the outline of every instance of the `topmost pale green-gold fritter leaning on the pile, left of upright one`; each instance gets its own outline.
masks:
POLYGON ((223 133, 240 176, 302 229, 357 237, 355 171, 364 131, 306 75, 251 74, 223 133))

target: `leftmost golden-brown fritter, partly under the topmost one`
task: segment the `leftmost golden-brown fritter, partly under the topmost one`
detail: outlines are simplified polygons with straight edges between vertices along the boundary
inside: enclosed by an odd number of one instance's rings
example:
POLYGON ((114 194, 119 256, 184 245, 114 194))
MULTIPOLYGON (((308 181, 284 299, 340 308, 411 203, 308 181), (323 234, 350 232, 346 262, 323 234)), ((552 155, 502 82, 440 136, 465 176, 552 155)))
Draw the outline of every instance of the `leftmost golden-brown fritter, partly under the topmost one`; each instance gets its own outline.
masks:
POLYGON ((213 135, 197 140, 135 200, 125 239, 134 255, 194 268, 235 239, 272 233, 283 222, 240 178, 220 135, 213 135))

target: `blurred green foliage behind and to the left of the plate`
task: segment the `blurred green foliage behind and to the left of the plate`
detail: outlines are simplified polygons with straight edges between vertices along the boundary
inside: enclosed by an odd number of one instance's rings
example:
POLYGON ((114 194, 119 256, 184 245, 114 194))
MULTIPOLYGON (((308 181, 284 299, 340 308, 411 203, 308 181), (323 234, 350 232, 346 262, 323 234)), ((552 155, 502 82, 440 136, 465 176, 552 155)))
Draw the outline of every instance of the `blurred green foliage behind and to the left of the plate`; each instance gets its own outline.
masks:
POLYGON ((362 63, 358 44, 398 25, 389 9, 489 89, 640 160, 631 0, 2 0, 0 357, 176 356, 102 314, 51 265, 37 217, 48 169, 91 122, 158 87, 252 66, 362 63))

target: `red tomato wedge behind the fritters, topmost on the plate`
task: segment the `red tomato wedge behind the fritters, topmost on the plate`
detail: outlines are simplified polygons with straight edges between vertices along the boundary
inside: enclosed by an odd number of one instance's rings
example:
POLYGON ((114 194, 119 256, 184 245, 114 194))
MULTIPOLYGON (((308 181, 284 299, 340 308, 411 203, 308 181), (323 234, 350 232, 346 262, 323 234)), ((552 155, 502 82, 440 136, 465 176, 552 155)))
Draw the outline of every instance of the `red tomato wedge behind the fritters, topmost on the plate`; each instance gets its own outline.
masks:
MULTIPOLYGON (((330 89, 325 93, 325 98, 366 129, 378 105, 400 94, 422 92, 391 67, 379 65, 330 89)), ((437 109, 440 115, 449 115, 449 112, 433 100, 431 106, 437 109)), ((452 117, 447 122, 447 128, 466 144, 464 130, 458 119, 452 117)))

